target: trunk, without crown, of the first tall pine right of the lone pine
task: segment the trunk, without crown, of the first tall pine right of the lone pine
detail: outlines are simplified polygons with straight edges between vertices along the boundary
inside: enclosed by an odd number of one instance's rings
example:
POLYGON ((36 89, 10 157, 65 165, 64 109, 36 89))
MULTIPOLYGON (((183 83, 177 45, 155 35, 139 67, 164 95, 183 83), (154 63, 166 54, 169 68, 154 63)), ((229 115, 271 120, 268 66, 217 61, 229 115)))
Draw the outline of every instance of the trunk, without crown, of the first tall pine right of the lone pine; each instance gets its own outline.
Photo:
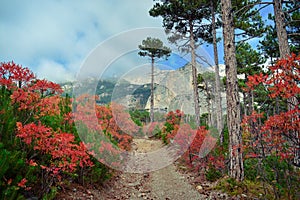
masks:
POLYGON ((191 64, 192 64, 192 81, 193 81, 193 92, 194 92, 194 108, 195 108, 195 119, 196 124, 200 126, 200 108, 199 108, 199 94, 197 85, 197 67, 196 67, 196 51, 195 51, 195 39, 193 33, 193 24, 190 23, 190 47, 191 47, 191 64))

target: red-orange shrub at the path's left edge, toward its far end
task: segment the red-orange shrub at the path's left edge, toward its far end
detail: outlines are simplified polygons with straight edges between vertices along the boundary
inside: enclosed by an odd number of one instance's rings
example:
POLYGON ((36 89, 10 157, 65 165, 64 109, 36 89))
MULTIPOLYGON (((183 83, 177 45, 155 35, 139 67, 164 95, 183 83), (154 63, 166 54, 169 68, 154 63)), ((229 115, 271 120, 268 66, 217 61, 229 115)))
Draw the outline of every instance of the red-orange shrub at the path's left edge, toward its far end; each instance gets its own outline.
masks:
POLYGON ((121 105, 96 105, 95 97, 90 95, 81 95, 76 102, 75 121, 83 122, 89 130, 103 133, 108 138, 112 136, 120 149, 130 149, 132 135, 138 132, 139 127, 121 105))

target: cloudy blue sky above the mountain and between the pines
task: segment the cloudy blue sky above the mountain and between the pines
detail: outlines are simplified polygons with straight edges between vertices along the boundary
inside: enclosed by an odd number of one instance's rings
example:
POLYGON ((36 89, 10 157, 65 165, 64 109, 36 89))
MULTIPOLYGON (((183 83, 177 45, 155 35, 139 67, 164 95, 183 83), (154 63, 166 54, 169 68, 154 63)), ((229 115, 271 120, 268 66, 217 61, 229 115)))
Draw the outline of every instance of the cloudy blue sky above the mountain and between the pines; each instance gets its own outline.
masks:
MULTIPOLYGON (((14 61, 30 68, 38 78, 60 83, 76 80, 86 63, 91 64, 92 55, 90 74, 100 67, 105 69, 96 70, 98 73, 119 76, 130 67, 150 62, 137 56, 137 46, 147 34, 157 32, 153 35, 167 43, 162 19, 148 14, 153 4, 153 0, 1 0, 0 62, 14 61), (141 29, 148 32, 141 33, 141 29), (120 42, 122 38, 127 41, 120 42), (135 49, 125 51, 126 42, 135 49)), ((222 45, 218 44, 220 63, 222 45)), ((188 62, 172 49, 173 55, 161 64, 177 68, 188 62)), ((199 51, 213 63, 211 46, 199 51)))

